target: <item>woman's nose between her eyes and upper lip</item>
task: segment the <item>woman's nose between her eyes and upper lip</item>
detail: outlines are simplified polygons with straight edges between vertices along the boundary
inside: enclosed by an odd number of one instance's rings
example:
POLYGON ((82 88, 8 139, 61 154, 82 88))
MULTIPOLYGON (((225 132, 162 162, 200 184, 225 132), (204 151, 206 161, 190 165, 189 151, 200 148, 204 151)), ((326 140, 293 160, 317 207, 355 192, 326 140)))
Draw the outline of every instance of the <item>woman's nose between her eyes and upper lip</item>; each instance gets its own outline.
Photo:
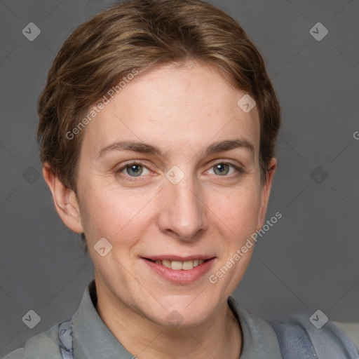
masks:
POLYGON ((172 237, 194 240, 208 226, 208 208, 201 184, 193 176, 185 175, 177 184, 166 180, 161 204, 158 225, 172 237))

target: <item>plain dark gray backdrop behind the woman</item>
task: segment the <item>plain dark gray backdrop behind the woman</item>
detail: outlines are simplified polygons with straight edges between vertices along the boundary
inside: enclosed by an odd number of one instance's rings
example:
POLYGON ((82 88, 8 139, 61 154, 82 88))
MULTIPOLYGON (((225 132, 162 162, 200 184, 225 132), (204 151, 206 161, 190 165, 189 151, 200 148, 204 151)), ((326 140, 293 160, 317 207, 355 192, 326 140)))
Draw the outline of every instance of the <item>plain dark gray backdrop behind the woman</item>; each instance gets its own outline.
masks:
MULTIPOLYGON (((41 177, 36 100, 65 37, 106 4, 0 1, 1 356, 72 316, 93 278, 79 236, 60 221, 41 177), (41 29, 34 41, 22 34, 29 22, 41 29), (41 317, 32 330, 22 323, 29 309, 41 317)), ((283 217, 259 239, 234 295, 266 318, 320 309, 331 320, 358 321, 359 2, 217 6, 261 51, 283 109, 267 215, 283 217), (321 41, 309 33, 316 22, 329 31, 321 41)))

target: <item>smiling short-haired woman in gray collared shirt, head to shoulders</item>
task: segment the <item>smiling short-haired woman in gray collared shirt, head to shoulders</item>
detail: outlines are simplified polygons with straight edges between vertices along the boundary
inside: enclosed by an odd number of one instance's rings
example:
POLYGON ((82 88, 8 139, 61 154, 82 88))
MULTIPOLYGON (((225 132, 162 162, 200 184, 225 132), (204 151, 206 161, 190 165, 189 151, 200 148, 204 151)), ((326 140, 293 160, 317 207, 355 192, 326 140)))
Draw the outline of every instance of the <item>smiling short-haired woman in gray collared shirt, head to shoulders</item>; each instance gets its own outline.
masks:
POLYGON ((43 176, 95 279, 71 319, 6 358, 357 357, 330 323, 268 323, 231 297, 266 220, 280 107, 229 15, 200 0, 95 15, 38 111, 43 176))

